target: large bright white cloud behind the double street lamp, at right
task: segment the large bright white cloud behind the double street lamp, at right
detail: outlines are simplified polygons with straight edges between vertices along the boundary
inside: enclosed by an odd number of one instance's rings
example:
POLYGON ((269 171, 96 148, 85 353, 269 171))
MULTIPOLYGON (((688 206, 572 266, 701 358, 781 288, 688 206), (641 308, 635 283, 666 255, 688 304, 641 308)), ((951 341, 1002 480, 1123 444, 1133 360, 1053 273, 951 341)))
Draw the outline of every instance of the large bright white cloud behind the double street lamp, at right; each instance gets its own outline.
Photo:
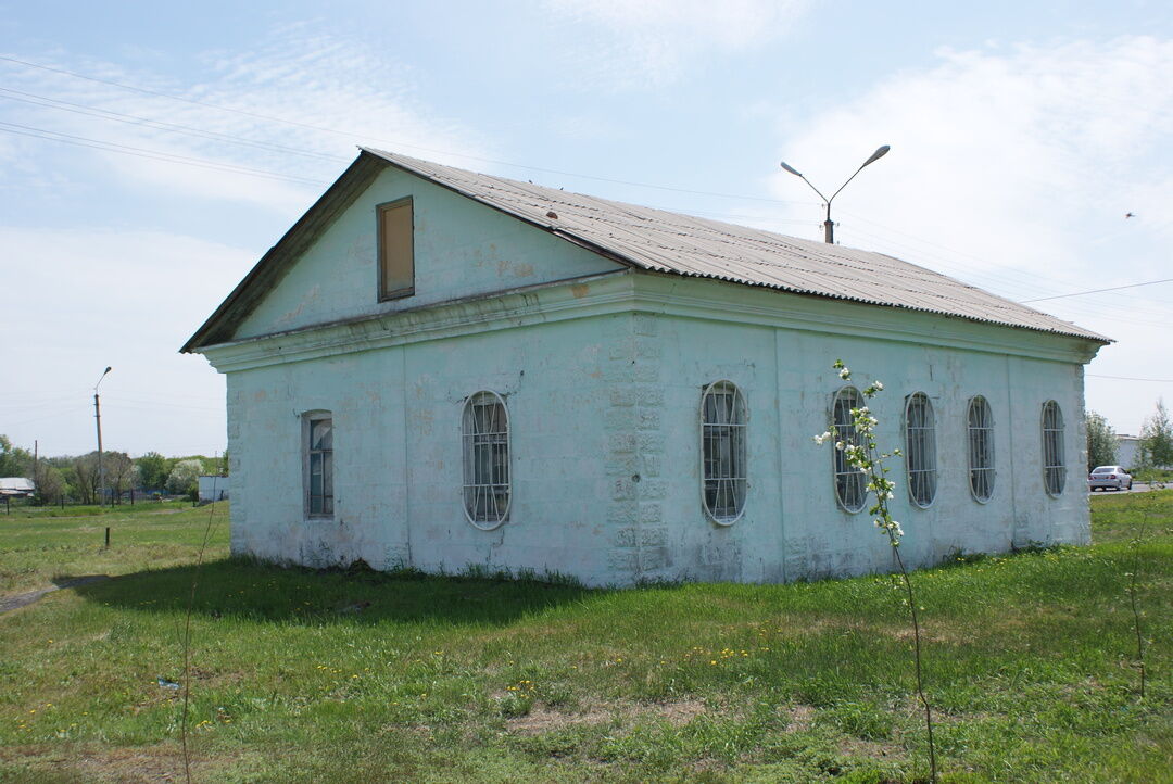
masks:
MULTIPOLYGON (((780 158, 825 193, 880 144, 891 154, 835 199, 845 245, 881 250, 1012 299, 1166 278, 1173 233, 1173 41, 938 52, 940 64, 879 83, 799 129, 780 158), (1126 219, 1126 212, 1138 218, 1126 219)), ((780 169, 779 198, 809 195, 780 169)), ((787 218, 809 217, 794 209, 787 218)), ((785 227, 780 227, 785 231, 785 227)), ((807 236, 814 236, 809 232, 807 236)), ((1038 302, 1119 340, 1096 373, 1173 377, 1168 300, 1154 289, 1038 302), (1145 371, 1138 368, 1146 368, 1145 371)), ((1159 390, 1089 383, 1121 430, 1159 390)))

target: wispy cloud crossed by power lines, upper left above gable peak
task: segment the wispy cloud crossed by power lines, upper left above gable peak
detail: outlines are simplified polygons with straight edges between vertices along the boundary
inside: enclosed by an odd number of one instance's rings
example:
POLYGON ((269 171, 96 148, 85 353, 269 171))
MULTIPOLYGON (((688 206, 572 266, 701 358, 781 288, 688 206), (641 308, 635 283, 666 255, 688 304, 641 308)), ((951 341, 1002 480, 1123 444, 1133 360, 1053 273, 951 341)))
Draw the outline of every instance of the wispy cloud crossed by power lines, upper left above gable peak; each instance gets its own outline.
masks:
POLYGON ((0 121, 96 139, 99 146, 135 148, 101 151, 79 146, 79 138, 70 144, 6 135, 0 148, 6 166, 34 157, 67 158, 100 165, 134 188, 165 188, 289 212, 320 192, 354 157, 359 143, 426 149, 428 157, 441 159, 446 154, 483 155, 474 131, 415 95, 411 68, 361 41, 316 33, 310 25, 279 28, 246 53, 208 53, 205 76, 196 83, 103 61, 45 53, 14 56, 145 91, 2 63, 5 86, 21 94, 0 93, 0 121), (121 116, 95 116, 103 111, 121 116), (155 122, 138 123, 136 117, 155 122), (45 145, 57 145, 61 155, 38 156, 45 145), (154 159, 144 150, 222 169, 154 159), (225 170, 230 168, 277 177, 225 170))

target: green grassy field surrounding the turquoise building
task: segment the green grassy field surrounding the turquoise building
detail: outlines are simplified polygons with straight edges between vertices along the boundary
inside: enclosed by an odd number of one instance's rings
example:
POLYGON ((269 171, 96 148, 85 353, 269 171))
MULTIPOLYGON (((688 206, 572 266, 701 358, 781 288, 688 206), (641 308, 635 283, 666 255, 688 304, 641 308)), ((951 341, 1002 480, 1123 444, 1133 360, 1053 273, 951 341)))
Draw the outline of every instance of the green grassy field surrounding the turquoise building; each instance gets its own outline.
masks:
MULTIPOLYGON (((1173 782, 1173 491, 1097 495, 1092 509, 1091 547, 914 575, 942 780, 1173 782), (1125 573, 1145 516, 1139 700, 1125 573)), ((283 570, 228 559, 225 513, 0 516, 0 596, 117 575, 0 615, 0 780, 183 780, 182 693, 158 679, 183 680, 197 579, 196 780, 927 773, 888 577, 594 591, 283 570)))

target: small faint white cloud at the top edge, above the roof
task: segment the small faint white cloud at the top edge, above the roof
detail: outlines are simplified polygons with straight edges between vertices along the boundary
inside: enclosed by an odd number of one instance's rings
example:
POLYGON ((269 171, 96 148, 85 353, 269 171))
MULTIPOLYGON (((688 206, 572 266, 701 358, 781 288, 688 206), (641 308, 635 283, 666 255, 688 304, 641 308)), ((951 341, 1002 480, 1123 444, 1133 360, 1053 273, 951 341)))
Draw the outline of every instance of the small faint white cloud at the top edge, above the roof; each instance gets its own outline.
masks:
POLYGON ((579 86, 671 83, 706 54, 760 47, 789 32, 807 0, 548 0, 574 26, 565 57, 579 86))

